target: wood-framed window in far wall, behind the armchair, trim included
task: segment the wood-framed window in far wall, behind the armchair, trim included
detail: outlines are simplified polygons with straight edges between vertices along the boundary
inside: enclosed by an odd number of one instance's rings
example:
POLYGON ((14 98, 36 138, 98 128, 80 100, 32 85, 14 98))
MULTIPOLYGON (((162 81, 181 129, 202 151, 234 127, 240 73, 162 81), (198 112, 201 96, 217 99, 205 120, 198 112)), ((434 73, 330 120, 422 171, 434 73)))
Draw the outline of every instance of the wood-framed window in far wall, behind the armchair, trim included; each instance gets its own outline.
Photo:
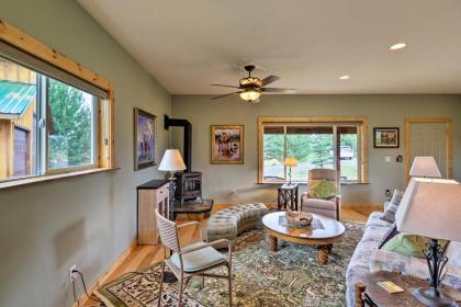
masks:
POLYGON ((294 182, 306 182, 308 170, 336 169, 341 182, 367 182, 367 120, 260 117, 259 178, 261 183, 284 182, 285 158, 295 158, 294 182))

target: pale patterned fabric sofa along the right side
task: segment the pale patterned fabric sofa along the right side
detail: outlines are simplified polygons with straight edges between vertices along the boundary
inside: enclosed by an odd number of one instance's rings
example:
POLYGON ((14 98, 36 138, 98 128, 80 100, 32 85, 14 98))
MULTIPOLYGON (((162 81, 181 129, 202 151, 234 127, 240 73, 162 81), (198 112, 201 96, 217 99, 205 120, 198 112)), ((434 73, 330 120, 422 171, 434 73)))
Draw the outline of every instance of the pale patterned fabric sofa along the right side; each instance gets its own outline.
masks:
MULTIPOLYGON (((346 303, 348 307, 355 306, 355 284, 361 282, 370 272, 397 271, 419 278, 428 277, 425 259, 379 249, 382 238, 392 227, 391 223, 381 219, 383 215, 382 212, 373 212, 370 215, 364 227, 363 237, 357 245, 347 268, 346 303)), ((461 289, 461 243, 450 242, 447 247, 446 255, 449 258, 449 261, 441 282, 453 288, 461 289)))

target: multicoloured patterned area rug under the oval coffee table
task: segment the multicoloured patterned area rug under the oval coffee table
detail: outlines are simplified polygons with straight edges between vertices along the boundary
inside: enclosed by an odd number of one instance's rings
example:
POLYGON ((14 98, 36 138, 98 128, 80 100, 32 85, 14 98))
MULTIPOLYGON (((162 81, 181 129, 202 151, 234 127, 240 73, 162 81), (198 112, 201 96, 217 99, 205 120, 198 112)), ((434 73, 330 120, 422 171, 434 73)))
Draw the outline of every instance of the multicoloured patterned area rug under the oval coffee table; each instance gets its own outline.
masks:
MULTIPOLYGON (((269 252, 263 230, 243 234, 233 254, 234 306, 345 306, 346 269, 363 235, 363 225, 344 223, 346 235, 335 245, 327 265, 316 260, 316 248, 279 240, 269 252)), ((100 288, 97 295, 109 307, 157 306, 161 265, 127 274, 100 288)), ((215 272, 225 274, 225 269, 215 272)), ((164 283, 162 306, 177 306, 178 283, 164 283)), ((184 306, 227 306, 227 282, 194 277, 185 289, 184 306)))

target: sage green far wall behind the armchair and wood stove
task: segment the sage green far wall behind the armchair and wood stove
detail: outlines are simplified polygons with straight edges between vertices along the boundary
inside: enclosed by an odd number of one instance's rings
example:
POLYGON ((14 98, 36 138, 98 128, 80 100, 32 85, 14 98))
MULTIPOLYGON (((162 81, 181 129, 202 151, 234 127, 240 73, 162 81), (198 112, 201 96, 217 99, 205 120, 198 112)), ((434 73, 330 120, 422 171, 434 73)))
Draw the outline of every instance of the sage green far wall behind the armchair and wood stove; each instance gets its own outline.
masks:
MULTIPOLYGON (((395 162, 404 148, 374 149, 372 128, 397 126, 405 117, 451 117, 454 130, 454 177, 461 179, 461 96, 460 95, 265 95, 259 104, 243 102, 238 96, 210 101, 209 95, 173 95, 175 117, 188 118, 193 126, 193 170, 203 172, 204 196, 217 202, 276 202, 277 189, 257 182, 258 116, 367 116, 369 118, 370 184, 342 185, 346 204, 380 204, 386 189, 404 185, 405 166, 395 162), (245 164, 210 163, 210 125, 245 125, 245 164), (458 155, 457 155, 458 154, 458 155), (393 162, 385 163, 384 157, 393 162), (238 200, 231 195, 237 191, 238 200)), ((172 133, 173 146, 181 148, 181 132, 172 133)), ((305 190, 305 186, 303 186, 305 190)))

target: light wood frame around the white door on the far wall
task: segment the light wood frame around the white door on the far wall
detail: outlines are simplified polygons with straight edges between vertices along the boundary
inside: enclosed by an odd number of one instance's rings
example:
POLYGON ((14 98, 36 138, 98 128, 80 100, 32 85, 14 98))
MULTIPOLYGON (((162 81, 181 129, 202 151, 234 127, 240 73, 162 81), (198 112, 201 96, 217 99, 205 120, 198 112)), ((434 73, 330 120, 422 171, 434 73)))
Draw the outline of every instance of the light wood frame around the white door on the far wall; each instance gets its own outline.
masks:
POLYGON ((405 147, 405 182, 409 181, 411 157, 409 144, 411 124, 445 124, 447 143, 447 178, 453 177, 453 123, 447 117, 408 117, 404 120, 404 147, 405 147))

